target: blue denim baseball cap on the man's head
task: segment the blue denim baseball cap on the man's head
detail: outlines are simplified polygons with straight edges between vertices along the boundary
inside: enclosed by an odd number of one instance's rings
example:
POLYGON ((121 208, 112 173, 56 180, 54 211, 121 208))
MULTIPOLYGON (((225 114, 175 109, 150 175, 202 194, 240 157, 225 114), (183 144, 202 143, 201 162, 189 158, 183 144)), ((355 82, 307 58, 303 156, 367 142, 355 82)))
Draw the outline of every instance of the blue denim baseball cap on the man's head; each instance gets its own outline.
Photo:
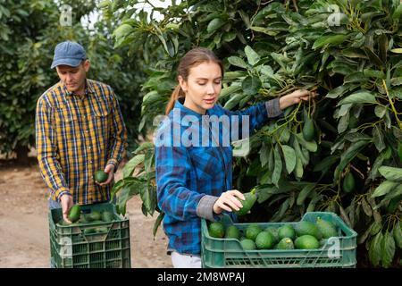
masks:
POLYGON ((53 69, 60 64, 76 67, 86 59, 85 49, 80 44, 66 41, 55 46, 53 63, 50 68, 53 69))

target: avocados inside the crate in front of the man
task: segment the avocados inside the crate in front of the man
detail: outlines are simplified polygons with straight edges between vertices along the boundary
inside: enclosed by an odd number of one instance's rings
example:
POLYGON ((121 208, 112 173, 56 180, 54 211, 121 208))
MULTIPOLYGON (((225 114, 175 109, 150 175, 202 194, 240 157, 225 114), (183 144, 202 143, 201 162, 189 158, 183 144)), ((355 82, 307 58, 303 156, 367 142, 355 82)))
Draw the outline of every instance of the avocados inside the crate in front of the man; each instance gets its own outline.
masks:
MULTIPOLYGON (((81 209, 79 205, 74 205, 71 207, 68 218, 71 221, 71 224, 66 223, 63 218, 57 223, 62 226, 80 226, 80 225, 90 225, 90 224, 99 224, 99 223, 110 223, 113 222, 114 214, 110 211, 96 211, 92 210, 89 214, 81 214, 81 209)), ((84 230, 85 234, 91 233, 101 233, 107 232, 108 229, 106 227, 98 227, 98 228, 87 228, 84 230)))

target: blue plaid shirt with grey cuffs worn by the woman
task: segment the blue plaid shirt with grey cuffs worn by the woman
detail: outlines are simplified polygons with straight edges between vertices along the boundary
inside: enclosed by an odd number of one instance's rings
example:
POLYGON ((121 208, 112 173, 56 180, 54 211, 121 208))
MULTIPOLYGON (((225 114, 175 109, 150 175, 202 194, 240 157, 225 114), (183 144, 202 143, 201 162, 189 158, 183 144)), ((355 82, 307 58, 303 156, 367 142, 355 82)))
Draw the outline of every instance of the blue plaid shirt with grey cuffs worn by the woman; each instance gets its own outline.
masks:
POLYGON ((206 111, 211 120, 205 123, 205 116, 182 105, 182 99, 176 102, 155 136, 157 198, 158 206, 165 213, 163 229, 169 238, 168 251, 199 256, 200 217, 213 220, 214 201, 222 192, 233 189, 232 147, 225 144, 225 137, 235 129, 240 130, 241 136, 243 115, 249 115, 247 127, 251 133, 270 117, 280 115, 281 110, 278 98, 237 112, 214 105, 206 111), (239 116, 239 128, 233 127, 236 122, 233 120, 229 126, 222 123, 219 129, 214 129, 213 115, 230 120, 239 116), (210 215, 200 211, 206 197, 214 198, 207 204, 210 215))

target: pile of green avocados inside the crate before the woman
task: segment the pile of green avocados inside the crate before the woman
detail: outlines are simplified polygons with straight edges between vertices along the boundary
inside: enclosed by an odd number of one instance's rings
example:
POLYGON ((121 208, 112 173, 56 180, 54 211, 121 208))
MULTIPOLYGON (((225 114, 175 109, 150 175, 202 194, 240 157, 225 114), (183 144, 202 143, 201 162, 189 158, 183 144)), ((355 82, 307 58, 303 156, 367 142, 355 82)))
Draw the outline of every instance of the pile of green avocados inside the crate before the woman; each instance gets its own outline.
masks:
POLYGON ((325 241, 337 237, 335 225, 317 217, 316 222, 286 223, 263 230, 258 224, 249 224, 245 230, 236 225, 225 228, 221 222, 209 223, 209 235, 217 239, 236 239, 244 250, 255 249, 318 249, 325 241))

